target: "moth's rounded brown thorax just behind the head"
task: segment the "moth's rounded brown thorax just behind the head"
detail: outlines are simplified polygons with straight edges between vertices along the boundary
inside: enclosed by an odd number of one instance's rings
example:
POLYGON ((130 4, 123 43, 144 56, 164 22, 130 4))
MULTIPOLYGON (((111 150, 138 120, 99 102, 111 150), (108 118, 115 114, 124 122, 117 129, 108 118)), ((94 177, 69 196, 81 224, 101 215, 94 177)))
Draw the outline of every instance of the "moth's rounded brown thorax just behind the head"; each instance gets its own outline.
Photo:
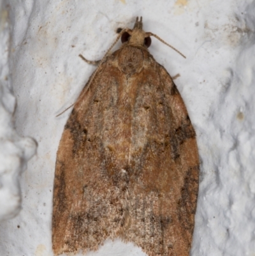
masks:
POLYGON ((145 50, 140 47, 126 45, 119 50, 118 68, 130 77, 135 73, 140 73, 143 68, 144 58, 145 50))

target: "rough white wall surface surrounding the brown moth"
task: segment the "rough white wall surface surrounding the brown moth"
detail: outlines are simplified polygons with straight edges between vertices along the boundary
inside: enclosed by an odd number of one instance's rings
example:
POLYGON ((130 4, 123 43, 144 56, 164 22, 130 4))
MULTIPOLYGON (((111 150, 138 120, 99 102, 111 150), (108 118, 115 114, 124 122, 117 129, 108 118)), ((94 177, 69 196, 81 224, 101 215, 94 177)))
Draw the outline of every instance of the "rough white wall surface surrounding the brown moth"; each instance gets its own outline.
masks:
MULTIPOLYGON (((52 256, 55 156, 70 110, 55 116, 75 102, 94 70, 78 54, 100 59, 117 27, 133 27, 136 16, 143 16, 145 31, 187 56, 152 38, 155 59, 171 75, 180 73, 175 83, 197 133, 201 172, 191 255, 254 255, 254 11, 252 0, 10 1, 6 64, 16 126, 38 141, 38 154, 22 175, 22 211, 0 225, 0 255, 52 256)), ((145 254, 117 240, 87 255, 145 254)))

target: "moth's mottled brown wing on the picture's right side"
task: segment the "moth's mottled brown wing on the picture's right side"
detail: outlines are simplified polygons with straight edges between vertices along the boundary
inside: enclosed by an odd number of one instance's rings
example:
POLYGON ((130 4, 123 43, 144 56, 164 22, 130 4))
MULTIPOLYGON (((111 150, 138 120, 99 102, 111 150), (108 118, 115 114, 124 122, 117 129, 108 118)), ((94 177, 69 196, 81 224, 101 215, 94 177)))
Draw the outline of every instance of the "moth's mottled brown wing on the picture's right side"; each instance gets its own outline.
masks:
POLYGON ((148 255, 188 255, 198 195, 195 132, 170 75, 154 59, 148 61, 150 69, 137 79, 128 186, 131 225, 123 236, 148 255))

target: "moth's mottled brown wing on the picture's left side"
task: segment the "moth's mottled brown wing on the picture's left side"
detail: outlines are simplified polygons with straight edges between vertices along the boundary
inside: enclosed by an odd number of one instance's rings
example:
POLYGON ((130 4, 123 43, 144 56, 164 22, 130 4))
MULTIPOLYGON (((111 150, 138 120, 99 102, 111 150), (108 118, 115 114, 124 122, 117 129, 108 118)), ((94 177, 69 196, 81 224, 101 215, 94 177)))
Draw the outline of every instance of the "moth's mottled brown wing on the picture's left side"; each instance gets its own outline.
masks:
MULTIPOLYGON (((113 156, 109 160, 113 149, 104 139, 113 133, 110 126, 119 126, 123 121, 115 118, 117 102, 112 101, 120 82, 115 76, 108 77, 110 81, 100 79, 101 72, 115 72, 116 68, 106 63, 101 65, 89 90, 78 99, 59 144, 52 219, 56 255, 96 249, 113 236, 122 216, 124 193, 117 184, 121 158, 116 160, 117 156, 113 156), (111 87, 107 86, 109 83, 111 87)), ((112 139, 117 140, 118 136, 122 137, 113 133, 112 139)))

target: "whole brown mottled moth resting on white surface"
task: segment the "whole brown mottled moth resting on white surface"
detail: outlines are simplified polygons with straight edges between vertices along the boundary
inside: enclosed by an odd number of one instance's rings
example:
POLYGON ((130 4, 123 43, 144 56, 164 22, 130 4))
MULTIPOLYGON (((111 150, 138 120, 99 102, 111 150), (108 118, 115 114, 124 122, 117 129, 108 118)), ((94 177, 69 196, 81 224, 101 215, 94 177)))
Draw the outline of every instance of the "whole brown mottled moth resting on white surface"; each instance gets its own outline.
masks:
POLYGON ((121 237, 150 256, 188 256, 196 134, 173 80, 147 49, 156 35, 142 30, 142 17, 120 36, 122 47, 102 59, 64 127, 52 248, 85 253, 121 237))

